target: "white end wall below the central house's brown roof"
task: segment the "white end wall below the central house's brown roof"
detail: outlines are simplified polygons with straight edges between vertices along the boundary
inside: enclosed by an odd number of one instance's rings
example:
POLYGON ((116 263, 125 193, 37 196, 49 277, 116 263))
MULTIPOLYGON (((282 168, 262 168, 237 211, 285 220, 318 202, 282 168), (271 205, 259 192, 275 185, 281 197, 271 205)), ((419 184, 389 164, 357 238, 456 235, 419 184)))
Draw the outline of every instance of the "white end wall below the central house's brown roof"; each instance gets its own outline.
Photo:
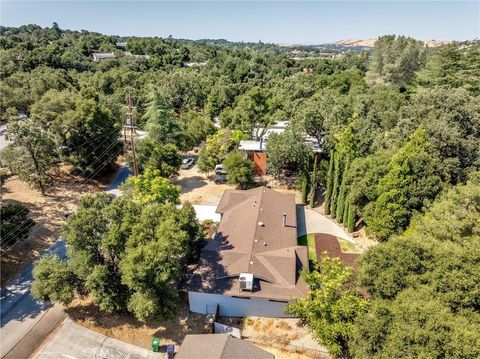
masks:
POLYGON ((218 304, 220 315, 225 317, 266 317, 285 318, 287 303, 271 302, 260 298, 238 298, 228 295, 188 292, 190 311, 200 314, 213 314, 218 304))

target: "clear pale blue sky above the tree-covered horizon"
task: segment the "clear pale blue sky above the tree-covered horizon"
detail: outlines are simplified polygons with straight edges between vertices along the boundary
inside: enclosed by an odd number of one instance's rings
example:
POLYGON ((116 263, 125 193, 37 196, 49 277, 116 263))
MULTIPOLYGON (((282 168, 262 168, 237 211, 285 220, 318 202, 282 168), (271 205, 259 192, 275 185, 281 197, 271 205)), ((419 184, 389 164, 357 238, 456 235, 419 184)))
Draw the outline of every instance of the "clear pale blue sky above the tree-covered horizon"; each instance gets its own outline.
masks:
POLYGON ((401 34, 480 37, 480 1, 1 1, 1 24, 109 35, 315 44, 401 34))

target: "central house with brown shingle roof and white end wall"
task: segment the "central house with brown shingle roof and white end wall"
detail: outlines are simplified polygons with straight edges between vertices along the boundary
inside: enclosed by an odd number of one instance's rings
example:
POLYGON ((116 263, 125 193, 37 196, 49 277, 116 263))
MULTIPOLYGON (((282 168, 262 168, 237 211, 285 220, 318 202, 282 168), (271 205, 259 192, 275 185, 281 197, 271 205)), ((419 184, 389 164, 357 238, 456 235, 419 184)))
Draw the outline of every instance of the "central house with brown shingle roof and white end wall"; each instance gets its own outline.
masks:
POLYGON ((185 284, 190 310, 212 314, 218 306, 222 316, 286 317, 288 301, 307 293, 295 195, 267 187, 226 190, 217 213, 217 235, 185 284))

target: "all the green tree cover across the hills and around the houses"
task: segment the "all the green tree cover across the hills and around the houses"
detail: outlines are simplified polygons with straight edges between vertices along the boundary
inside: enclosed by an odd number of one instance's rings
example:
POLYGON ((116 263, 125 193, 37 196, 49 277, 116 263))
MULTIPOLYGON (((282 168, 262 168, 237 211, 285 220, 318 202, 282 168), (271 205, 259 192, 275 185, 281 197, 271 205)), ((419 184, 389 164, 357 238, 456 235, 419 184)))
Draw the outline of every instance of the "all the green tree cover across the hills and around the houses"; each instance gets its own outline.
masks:
POLYGON ((168 179, 179 151, 199 147, 201 171, 224 163, 245 185, 251 164, 236 152, 240 140, 265 135, 270 173, 293 174, 305 203, 319 185, 325 214, 385 242, 361 260, 368 308, 343 281, 334 280, 335 293, 323 288, 331 278, 321 266, 311 274, 312 296, 295 311, 316 338, 358 358, 479 356, 478 41, 428 48, 387 35, 369 50, 332 45, 336 56, 325 57, 328 49, 311 46, 57 24, 0 35, 0 116, 13 142, 2 160, 22 180, 45 191, 59 162, 85 179, 108 168, 122 152, 129 97, 134 124, 148 131, 137 142, 143 173, 125 185, 133 200, 82 199, 64 231, 69 260, 46 257, 35 268, 38 298, 89 295, 141 320, 170 314, 197 238, 193 208, 175 207, 168 179), (97 51, 115 58, 94 61, 97 51), (280 121, 287 130, 269 134, 280 121), (312 138, 316 157, 305 144, 312 138), (345 308, 354 310, 338 320, 345 308))

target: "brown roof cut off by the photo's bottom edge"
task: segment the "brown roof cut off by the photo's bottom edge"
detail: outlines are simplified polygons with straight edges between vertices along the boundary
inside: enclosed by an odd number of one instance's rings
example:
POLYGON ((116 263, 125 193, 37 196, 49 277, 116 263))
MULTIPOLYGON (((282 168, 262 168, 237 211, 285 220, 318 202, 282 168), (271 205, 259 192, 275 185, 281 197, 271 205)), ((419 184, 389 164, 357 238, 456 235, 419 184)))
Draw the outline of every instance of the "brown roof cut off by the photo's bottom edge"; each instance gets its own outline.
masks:
POLYGON ((183 339, 175 359, 274 359, 275 356, 229 334, 192 334, 183 339))

